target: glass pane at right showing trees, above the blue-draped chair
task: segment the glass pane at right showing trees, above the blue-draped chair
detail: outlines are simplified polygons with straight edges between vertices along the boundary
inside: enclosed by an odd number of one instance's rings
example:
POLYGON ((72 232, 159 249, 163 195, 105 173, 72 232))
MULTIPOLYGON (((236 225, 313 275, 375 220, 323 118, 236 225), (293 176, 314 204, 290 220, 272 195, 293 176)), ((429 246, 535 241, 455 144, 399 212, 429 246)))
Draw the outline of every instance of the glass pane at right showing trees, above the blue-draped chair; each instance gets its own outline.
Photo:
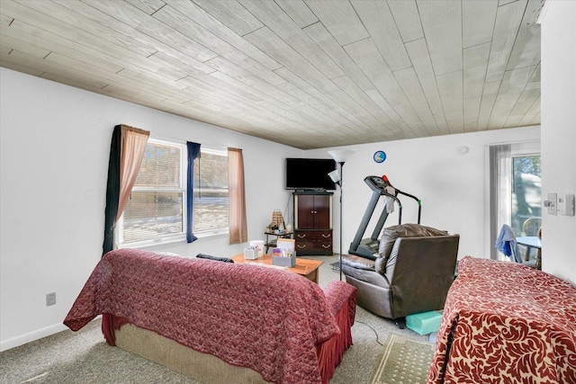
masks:
POLYGON ((512 158, 512 228, 517 237, 536 236, 542 226, 540 156, 512 158))

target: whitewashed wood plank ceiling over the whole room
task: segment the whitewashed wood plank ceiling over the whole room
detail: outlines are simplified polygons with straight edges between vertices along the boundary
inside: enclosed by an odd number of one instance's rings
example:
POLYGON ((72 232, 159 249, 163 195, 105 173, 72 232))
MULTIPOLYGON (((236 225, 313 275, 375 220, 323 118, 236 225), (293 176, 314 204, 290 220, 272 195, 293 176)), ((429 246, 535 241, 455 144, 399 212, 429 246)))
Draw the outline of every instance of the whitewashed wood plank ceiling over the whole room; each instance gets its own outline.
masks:
POLYGON ((0 65, 302 149, 505 129, 543 2, 0 0, 0 65))

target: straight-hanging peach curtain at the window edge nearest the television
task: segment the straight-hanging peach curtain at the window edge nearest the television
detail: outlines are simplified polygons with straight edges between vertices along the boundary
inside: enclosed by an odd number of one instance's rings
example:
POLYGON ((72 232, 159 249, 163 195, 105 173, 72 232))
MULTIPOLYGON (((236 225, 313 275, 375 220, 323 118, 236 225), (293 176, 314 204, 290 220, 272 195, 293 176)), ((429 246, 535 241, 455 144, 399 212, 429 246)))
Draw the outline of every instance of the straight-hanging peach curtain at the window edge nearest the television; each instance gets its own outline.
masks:
POLYGON ((229 243, 248 241, 244 157, 242 149, 228 148, 229 243))

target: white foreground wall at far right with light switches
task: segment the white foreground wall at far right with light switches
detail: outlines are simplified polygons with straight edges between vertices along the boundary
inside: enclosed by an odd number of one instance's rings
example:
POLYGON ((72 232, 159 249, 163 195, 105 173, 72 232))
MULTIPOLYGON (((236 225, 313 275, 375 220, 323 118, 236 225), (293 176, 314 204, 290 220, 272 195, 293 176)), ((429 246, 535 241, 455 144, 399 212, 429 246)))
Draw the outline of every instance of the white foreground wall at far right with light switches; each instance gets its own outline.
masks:
MULTIPOLYGON (((576 193, 576 2, 542 16, 542 196, 576 193)), ((543 210, 545 212, 545 210, 543 210)), ((576 284, 576 217, 543 213, 542 269, 576 284)))

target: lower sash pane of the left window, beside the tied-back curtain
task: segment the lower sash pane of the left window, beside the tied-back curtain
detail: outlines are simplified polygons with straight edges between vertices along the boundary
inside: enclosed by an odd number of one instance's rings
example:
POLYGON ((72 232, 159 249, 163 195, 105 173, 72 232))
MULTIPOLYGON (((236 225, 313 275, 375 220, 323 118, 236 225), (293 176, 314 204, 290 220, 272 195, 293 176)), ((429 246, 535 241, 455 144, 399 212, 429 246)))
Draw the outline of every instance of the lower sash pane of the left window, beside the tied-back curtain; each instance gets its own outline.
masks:
POLYGON ((124 209, 122 242, 184 232, 183 192, 132 192, 124 209))

